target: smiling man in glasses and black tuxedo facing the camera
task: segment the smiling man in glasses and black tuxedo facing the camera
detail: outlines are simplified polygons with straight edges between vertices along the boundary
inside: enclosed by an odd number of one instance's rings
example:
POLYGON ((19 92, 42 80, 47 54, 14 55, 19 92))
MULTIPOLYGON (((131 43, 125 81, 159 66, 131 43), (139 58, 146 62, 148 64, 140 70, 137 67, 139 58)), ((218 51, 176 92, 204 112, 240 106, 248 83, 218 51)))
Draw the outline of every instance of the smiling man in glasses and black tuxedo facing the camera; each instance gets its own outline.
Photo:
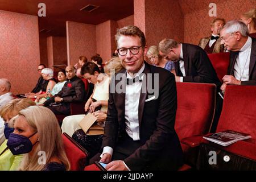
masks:
POLYGON ((120 28, 115 39, 125 69, 112 77, 101 151, 90 163, 108 163, 108 170, 176 170, 183 153, 174 130, 175 77, 144 61, 146 39, 138 27, 120 28))

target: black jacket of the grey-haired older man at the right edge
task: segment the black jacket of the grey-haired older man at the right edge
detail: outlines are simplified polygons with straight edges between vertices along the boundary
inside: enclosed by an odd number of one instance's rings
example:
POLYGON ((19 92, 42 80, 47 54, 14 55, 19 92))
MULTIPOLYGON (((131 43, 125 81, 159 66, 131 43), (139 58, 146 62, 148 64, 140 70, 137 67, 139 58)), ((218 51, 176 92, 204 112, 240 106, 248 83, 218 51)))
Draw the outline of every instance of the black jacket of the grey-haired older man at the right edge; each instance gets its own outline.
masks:
MULTIPOLYGON (((256 85, 256 39, 251 38, 251 56, 250 56, 250 65, 249 65, 249 81, 241 81, 241 85, 256 85)), ((228 68, 228 75, 234 76, 234 65, 236 63, 237 52, 230 52, 229 58, 229 68, 228 68)))

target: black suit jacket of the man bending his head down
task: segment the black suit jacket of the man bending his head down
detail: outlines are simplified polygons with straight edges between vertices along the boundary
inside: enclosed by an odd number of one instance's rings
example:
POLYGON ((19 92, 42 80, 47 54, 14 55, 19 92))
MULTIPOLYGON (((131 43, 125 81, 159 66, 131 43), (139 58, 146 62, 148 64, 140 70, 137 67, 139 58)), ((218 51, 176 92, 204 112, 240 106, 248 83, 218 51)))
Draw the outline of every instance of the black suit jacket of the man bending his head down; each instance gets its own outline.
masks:
MULTIPOLYGON (((183 61, 185 68, 184 82, 204 82, 213 83, 220 86, 217 74, 210 63, 207 53, 199 46, 192 44, 182 44, 183 61)), ((180 71, 179 61, 175 63, 177 76, 183 76, 180 71)))

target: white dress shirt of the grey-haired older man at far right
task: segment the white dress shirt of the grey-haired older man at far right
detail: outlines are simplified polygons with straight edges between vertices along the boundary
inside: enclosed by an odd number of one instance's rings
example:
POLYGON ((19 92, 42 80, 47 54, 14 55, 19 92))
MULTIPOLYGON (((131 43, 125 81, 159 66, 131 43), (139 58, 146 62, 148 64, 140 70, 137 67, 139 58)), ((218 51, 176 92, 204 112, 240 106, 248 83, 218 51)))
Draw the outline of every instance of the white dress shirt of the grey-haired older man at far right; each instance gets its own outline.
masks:
POLYGON ((251 55, 251 43, 252 40, 248 37, 245 45, 240 49, 236 63, 234 65, 234 77, 240 81, 249 80, 249 65, 250 65, 250 55, 251 55))

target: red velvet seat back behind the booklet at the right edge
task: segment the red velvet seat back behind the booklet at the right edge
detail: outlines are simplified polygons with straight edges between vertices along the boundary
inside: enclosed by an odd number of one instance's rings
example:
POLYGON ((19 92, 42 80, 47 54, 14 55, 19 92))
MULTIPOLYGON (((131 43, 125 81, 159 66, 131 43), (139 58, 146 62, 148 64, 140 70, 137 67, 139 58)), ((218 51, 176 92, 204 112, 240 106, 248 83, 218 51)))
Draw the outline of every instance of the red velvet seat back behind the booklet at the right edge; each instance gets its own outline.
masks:
POLYGON ((251 139, 246 141, 256 144, 256 86, 226 87, 216 132, 224 130, 249 133, 251 139))

